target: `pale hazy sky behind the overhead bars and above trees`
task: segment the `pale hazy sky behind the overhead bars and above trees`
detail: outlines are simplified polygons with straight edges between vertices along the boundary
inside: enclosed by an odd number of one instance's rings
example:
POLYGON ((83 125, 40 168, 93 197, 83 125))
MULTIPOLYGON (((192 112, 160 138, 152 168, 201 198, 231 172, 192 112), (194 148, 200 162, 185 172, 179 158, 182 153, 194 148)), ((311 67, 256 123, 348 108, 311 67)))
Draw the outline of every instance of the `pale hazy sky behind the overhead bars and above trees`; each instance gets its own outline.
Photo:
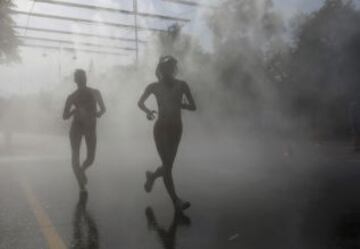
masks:
MULTIPOLYGON (((132 9, 132 0, 62 0, 64 2, 78 2, 85 4, 94 4, 102 6, 111 6, 123 9, 132 9)), ((213 3, 221 0, 204 0, 206 3, 213 3)), ((322 0, 273 0, 277 8, 285 19, 301 11, 311 11, 321 6, 322 0)), ((98 12, 76 8, 58 7, 49 4, 36 3, 33 1, 15 0, 17 9, 29 12, 33 7, 34 13, 48 13, 53 15, 63 15, 69 17, 79 17, 85 19, 95 19, 100 21, 133 24, 133 17, 127 15, 113 14, 109 12, 98 12)), ((211 48, 209 42, 210 36, 206 28, 206 20, 203 17, 204 12, 209 11, 206 8, 194 8, 189 6, 178 5, 162 0, 138 0, 140 12, 159 13, 171 16, 181 16, 192 20, 186 24, 184 31, 197 37, 207 49, 211 48)), ((14 16, 17 24, 22 26, 44 27, 59 30, 72 30, 88 33, 134 37, 133 30, 111 28, 104 26, 90 26, 85 24, 74 24, 66 21, 48 20, 37 17, 17 15, 14 16)), ((164 28, 171 24, 168 21, 159 21, 153 18, 139 18, 142 26, 164 28)), ((40 32, 19 30, 19 34, 27 36, 48 37, 54 39, 70 40, 75 42, 76 48, 84 48, 79 42, 91 42, 114 45, 112 41, 98 40, 96 38, 88 39, 78 38, 66 35, 46 34, 40 32)), ((142 31, 139 33, 141 39, 150 40, 151 32, 142 31)), ((59 46, 57 43, 48 42, 29 42, 31 44, 44 44, 59 46)), ((116 42, 117 46, 134 47, 133 43, 116 42)), ((141 51, 153 49, 152 44, 141 46, 141 51)), ((124 56, 104 56, 88 55, 58 51, 47 51, 41 49, 21 48, 23 63, 20 65, 0 66, 0 80, 2 81, 0 94, 8 95, 11 93, 29 93, 37 92, 39 89, 51 89, 55 84, 60 82, 60 78, 69 75, 76 67, 87 69, 91 61, 94 62, 98 72, 106 71, 107 68, 117 64, 127 64, 134 61, 134 53, 128 51, 118 51, 124 56)))

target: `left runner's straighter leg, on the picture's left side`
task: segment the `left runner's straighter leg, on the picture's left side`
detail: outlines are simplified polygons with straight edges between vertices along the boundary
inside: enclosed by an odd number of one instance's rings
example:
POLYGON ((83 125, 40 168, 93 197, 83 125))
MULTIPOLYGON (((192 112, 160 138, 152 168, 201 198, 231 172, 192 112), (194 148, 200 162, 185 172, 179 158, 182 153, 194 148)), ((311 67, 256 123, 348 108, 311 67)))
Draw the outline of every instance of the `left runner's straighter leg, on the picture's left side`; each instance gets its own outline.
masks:
POLYGON ((70 129, 70 144, 71 144, 71 162, 76 180, 80 189, 84 189, 84 178, 80 169, 80 144, 81 144, 81 128, 77 125, 72 125, 70 129))

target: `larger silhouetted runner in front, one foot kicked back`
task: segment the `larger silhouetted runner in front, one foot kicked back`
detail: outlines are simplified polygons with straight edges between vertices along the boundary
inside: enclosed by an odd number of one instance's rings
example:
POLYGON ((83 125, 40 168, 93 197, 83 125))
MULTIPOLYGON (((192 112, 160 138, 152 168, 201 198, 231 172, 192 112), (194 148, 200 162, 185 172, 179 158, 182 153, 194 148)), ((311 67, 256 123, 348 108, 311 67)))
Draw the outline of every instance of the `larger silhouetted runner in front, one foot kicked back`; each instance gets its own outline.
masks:
POLYGON ((158 119, 154 125, 154 139, 162 166, 155 172, 146 172, 145 191, 150 192, 154 181, 163 177, 175 209, 184 210, 190 207, 190 203, 182 201, 177 196, 172 168, 182 134, 181 109, 195 111, 196 106, 188 84, 176 79, 176 72, 176 59, 171 56, 161 57, 156 69, 156 76, 159 81, 146 87, 138 106, 146 113, 149 120, 153 120, 156 111, 149 110, 145 106, 145 101, 151 94, 154 94, 159 111, 158 119))

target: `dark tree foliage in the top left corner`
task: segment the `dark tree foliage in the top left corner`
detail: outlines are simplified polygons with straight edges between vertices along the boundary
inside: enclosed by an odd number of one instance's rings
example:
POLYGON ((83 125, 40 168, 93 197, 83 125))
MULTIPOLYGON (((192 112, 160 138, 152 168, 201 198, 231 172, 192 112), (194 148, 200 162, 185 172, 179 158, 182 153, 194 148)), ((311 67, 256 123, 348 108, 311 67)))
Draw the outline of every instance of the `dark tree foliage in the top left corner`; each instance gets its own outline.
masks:
POLYGON ((0 1, 0 64, 20 60, 17 47, 20 44, 13 28, 14 21, 10 10, 13 7, 11 0, 0 1))

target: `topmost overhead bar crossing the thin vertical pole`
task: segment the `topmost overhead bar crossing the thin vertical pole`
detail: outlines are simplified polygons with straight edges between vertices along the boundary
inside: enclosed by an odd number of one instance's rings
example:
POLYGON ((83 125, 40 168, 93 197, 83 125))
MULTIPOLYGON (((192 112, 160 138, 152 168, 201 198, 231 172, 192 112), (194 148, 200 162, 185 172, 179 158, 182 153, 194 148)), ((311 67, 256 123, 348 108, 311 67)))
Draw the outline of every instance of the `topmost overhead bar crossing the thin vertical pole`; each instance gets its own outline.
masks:
MULTIPOLYGON (((95 6, 95 5, 69 3, 69 2, 62 2, 62 1, 56 1, 56 0, 36 0, 36 2, 61 5, 61 6, 67 6, 67 7, 90 9, 90 10, 109 11, 109 12, 121 13, 121 14, 125 14, 125 15, 135 15, 135 11, 125 10, 125 9, 117 9, 117 8, 109 8, 109 7, 100 7, 100 6, 95 6)), ((163 19, 163 20, 171 20, 171 21, 179 21, 179 22, 190 22, 191 21, 190 19, 181 18, 181 17, 150 14, 150 13, 144 13, 144 12, 137 12, 137 15, 142 16, 142 17, 151 17, 151 18, 158 18, 158 19, 163 19)))

